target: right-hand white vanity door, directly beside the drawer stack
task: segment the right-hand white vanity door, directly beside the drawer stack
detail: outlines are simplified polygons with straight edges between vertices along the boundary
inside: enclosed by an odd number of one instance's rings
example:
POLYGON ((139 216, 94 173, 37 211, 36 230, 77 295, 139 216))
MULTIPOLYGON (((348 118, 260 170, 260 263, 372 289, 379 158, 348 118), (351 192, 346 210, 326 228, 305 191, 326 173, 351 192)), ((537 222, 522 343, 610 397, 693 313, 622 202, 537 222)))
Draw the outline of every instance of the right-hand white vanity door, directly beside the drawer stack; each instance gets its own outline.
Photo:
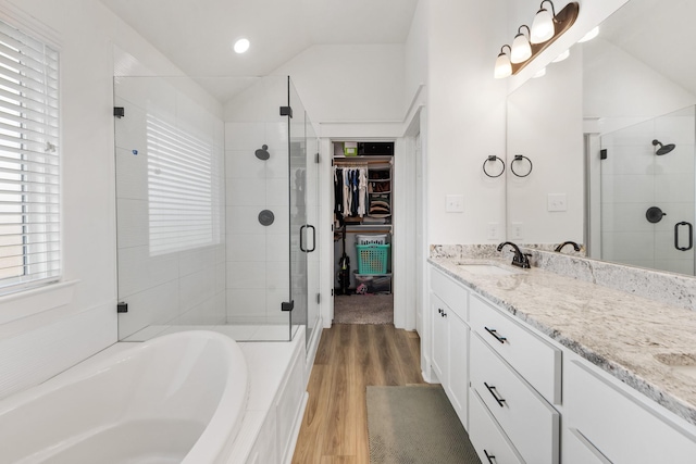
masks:
POLYGON ((449 322, 449 389, 450 403, 465 429, 469 397, 469 326, 456 314, 448 314, 449 322))

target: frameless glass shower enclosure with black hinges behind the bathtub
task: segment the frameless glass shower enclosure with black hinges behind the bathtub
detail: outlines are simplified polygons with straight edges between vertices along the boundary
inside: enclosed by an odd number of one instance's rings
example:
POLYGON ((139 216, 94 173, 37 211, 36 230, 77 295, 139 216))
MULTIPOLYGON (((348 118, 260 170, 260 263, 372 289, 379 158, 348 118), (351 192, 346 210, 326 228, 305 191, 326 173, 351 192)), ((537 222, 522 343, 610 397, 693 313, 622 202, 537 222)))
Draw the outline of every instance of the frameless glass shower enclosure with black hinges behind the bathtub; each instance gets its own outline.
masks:
POLYGON ((119 339, 309 337, 318 141, 289 77, 115 77, 114 116, 119 339))

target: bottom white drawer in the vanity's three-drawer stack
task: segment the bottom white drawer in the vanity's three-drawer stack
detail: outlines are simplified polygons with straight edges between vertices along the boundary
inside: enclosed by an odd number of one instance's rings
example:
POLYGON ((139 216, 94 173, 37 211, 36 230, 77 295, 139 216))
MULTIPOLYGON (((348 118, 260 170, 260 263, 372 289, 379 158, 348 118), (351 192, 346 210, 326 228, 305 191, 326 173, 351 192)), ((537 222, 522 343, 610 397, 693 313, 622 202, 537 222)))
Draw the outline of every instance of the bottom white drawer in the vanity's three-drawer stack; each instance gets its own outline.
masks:
POLYGON ((470 390, 469 437, 483 464, 524 464, 478 393, 470 390))

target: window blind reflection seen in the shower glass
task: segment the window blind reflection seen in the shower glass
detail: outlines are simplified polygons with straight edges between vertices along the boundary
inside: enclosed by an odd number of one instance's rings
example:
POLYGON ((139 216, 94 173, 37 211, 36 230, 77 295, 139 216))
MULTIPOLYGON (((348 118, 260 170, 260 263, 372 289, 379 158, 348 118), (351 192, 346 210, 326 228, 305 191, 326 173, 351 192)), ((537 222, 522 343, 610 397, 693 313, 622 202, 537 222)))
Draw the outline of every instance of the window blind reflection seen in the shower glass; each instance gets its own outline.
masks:
POLYGON ((147 115, 151 255, 220 242, 213 143, 166 120, 147 115))

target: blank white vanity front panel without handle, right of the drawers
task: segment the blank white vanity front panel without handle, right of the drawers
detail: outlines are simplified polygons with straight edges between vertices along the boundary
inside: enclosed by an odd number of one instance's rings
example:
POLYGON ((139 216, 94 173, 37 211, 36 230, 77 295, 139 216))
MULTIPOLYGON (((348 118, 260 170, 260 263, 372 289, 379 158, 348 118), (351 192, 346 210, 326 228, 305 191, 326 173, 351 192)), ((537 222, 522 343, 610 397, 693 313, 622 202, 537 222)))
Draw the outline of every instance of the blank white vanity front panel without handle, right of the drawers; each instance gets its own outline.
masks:
POLYGON ((609 462, 694 462, 696 427, 584 361, 568 363, 563 381, 563 427, 580 431, 609 462))

